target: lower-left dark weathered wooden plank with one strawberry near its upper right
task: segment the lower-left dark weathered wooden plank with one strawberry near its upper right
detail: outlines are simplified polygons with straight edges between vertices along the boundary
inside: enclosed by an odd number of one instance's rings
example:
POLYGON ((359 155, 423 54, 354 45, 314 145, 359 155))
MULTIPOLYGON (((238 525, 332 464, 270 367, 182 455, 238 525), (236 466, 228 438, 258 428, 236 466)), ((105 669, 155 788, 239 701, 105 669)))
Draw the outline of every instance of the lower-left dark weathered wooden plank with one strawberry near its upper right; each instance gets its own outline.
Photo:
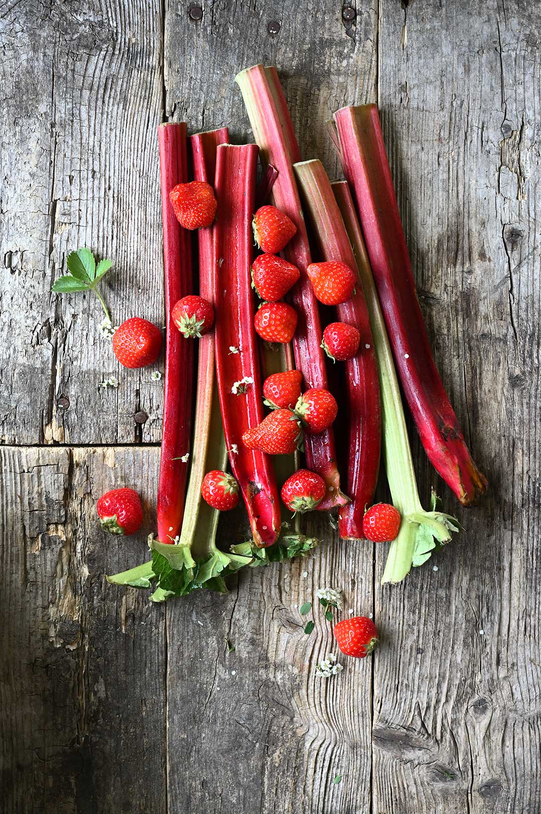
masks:
POLYGON ((154 495, 158 459, 0 449, 2 814, 166 810, 164 608, 103 579, 146 555, 151 523, 127 540, 95 518, 115 484, 154 495))

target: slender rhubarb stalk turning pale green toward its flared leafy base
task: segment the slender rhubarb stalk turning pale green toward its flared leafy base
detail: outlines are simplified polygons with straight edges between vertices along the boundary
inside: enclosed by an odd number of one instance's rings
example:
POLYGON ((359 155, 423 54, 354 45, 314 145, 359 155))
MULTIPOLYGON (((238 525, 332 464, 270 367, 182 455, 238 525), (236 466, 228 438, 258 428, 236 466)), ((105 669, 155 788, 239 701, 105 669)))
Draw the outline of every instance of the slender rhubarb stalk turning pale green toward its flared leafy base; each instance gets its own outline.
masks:
POLYGON ((393 503, 402 515, 399 535, 390 544, 382 584, 395 583, 404 580, 412 566, 422 565, 434 549, 451 540, 452 532, 459 529, 454 517, 437 510, 435 496, 430 511, 421 505, 395 363, 351 191, 345 181, 332 186, 356 255, 376 348, 382 393, 383 455, 393 503))

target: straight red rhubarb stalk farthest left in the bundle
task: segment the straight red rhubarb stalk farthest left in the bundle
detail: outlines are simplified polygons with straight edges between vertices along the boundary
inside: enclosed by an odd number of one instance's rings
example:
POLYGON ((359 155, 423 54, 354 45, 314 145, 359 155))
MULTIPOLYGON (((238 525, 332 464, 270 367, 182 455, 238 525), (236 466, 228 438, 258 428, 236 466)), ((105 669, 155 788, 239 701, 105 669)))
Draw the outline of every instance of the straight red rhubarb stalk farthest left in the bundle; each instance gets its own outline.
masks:
POLYGON ((180 533, 184 514, 188 464, 180 457, 190 450, 194 343, 173 325, 173 305, 194 293, 190 234, 172 210, 169 192, 187 182, 186 125, 159 125, 159 171, 164 221, 165 386, 164 427, 159 462, 158 540, 171 543, 180 533))

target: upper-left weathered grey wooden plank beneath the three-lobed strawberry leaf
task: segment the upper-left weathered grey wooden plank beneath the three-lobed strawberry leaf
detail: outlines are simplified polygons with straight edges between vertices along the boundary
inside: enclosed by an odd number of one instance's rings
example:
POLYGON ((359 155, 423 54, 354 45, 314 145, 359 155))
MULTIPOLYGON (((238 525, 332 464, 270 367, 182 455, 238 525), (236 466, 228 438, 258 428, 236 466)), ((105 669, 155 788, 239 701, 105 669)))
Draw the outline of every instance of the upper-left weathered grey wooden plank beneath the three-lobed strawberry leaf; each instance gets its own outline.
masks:
POLYGON ((160 3, 8 6, 0 20, 0 333, 11 338, 0 350, 2 440, 159 440, 162 387, 151 371, 120 369, 94 296, 57 297, 50 286, 68 252, 88 245, 114 261, 103 293, 116 324, 133 315, 164 324, 160 3), (116 374, 118 390, 98 388, 104 374, 116 374), (133 416, 143 409, 151 418, 136 435, 133 416))

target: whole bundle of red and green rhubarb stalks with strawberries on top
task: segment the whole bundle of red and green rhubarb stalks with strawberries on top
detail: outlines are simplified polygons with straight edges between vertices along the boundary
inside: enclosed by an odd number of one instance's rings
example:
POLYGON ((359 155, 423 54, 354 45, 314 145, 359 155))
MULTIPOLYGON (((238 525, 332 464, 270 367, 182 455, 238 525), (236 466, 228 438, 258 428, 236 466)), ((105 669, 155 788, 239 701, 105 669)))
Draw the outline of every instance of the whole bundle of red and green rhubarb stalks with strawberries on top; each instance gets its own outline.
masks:
MULTIPOLYGON (((148 562, 108 577, 151 588, 154 601, 225 591, 241 567, 307 554, 317 540, 299 516, 310 510, 336 511, 343 538, 390 542, 383 582, 450 540, 458 523, 435 494, 430 510, 421 505, 399 383, 460 502, 486 490, 430 351, 377 108, 335 114, 347 181, 331 184, 320 161, 301 161, 276 70, 248 68, 237 82, 255 144, 229 144, 227 129, 187 138, 184 124, 159 127, 167 347, 157 536, 148 562), (324 330, 320 304, 333 317, 324 330), (327 365, 344 366, 339 403, 327 365), (347 427, 342 485, 337 415, 347 427), (381 449, 393 505, 372 505, 381 449), (219 514, 241 497, 250 539, 225 551, 219 514)), ((103 524, 122 533, 111 505, 103 524)))

